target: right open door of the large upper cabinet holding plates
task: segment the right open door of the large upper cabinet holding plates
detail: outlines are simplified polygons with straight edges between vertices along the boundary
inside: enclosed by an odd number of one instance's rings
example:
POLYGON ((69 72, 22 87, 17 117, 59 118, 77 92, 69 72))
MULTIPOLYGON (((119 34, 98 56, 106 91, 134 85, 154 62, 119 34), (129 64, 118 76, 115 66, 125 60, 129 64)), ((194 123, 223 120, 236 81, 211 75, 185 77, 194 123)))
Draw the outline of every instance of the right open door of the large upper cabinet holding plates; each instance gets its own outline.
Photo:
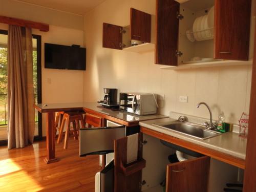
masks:
POLYGON ((248 60, 251 0, 215 0, 215 58, 248 60))

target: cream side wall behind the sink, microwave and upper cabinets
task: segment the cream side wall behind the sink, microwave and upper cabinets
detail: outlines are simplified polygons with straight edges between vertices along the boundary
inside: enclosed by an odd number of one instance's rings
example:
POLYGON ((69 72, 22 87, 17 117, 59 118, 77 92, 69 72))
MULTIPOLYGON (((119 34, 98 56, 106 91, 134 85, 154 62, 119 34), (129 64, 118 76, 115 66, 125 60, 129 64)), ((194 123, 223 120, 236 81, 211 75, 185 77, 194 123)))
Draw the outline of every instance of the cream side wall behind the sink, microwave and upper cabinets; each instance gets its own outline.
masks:
POLYGON ((197 70, 160 70, 154 64, 154 52, 144 54, 102 48, 102 23, 127 26, 130 8, 155 14, 155 0, 106 0, 84 17, 85 41, 88 50, 84 76, 84 101, 103 98, 103 88, 120 92, 140 91, 165 95, 159 112, 181 112, 209 117, 207 102, 214 118, 224 112, 227 122, 238 123, 242 112, 249 112, 251 67, 222 67, 197 70), (179 96, 188 96, 180 103, 179 96))

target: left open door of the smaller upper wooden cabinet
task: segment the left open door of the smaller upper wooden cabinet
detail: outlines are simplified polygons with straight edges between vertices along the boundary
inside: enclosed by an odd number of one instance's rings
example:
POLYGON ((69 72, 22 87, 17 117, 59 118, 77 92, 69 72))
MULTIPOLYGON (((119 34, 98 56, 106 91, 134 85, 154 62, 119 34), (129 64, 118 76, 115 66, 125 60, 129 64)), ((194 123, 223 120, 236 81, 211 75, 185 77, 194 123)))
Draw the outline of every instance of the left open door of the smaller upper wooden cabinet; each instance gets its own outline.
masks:
POLYGON ((122 49, 122 27, 103 23, 103 48, 122 49))

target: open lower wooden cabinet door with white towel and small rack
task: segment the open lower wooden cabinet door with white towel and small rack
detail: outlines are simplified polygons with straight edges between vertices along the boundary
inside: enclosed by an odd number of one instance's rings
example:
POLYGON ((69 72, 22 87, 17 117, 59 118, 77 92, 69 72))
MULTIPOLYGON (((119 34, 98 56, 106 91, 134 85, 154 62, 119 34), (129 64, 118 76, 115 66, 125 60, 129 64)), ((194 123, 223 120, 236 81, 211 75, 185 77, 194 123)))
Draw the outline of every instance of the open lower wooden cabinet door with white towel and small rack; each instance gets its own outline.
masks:
POLYGON ((115 158, 114 158, 114 191, 141 191, 141 179, 142 179, 142 169, 145 167, 145 160, 142 158, 142 141, 143 134, 137 133, 131 136, 127 136, 121 139, 115 140, 115 158), (132 142, 129 141, 133 137, 132 142), (138 142, 134 140, 134 137, 137 137, 138 142), (129 163, 131 148, 137 145, 137 160, 129 163), (129 157, 128 157, 129 156, 129 157))

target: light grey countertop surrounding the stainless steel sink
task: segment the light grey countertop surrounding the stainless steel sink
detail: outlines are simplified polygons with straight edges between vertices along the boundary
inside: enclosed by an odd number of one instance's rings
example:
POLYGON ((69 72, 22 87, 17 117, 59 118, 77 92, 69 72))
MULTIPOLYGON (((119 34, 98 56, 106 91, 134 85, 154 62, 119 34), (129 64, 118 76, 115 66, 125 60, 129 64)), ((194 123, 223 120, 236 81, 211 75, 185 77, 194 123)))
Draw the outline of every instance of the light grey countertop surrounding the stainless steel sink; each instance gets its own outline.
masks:
POLYGON ((139 122, 139 125, 146 127, 148 129, 172 136, 172 137, 176 137, 176 138, 188 141, 190 143, 194 143, 197 145, 201 145, 203 147, 210 148, 211 150, 215 150, 223 154, 233 156, 235 158, 245 160, 247 139, 239 137, 238 136, 239 134, 237 133, 227 132, 216 137, 202 140, 202 139, 190 137, 181 133, 174 132, 169 129, 165 129, 165 128, 153 125, 154 123, 168 122, 168 121, 175 121, 175 120, 177 119, 172 119, 172 118, 156 119, 156 120, 139 122))

